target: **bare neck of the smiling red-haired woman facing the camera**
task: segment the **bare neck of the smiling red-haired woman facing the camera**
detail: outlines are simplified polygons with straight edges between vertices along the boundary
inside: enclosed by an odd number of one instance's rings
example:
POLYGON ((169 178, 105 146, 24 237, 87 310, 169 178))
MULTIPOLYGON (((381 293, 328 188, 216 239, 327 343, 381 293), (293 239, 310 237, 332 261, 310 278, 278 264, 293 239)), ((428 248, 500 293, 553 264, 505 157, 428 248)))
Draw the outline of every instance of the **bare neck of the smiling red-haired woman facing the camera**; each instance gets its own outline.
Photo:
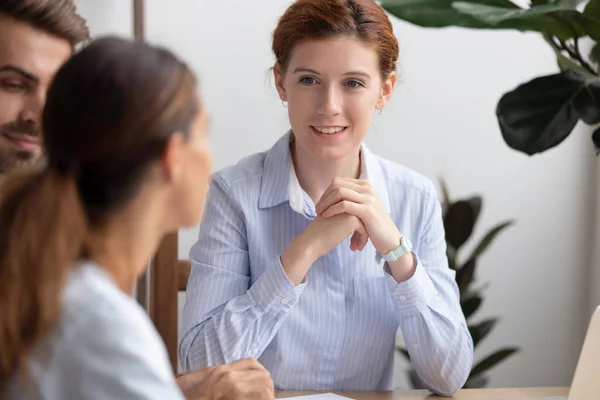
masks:
POLYGON ((292 161, 298 182, 316 204, 336 177, 354 178, 360 176, 360 146, 338 160, 320 160, 298 146, 297 141, 290 145, 292 161))

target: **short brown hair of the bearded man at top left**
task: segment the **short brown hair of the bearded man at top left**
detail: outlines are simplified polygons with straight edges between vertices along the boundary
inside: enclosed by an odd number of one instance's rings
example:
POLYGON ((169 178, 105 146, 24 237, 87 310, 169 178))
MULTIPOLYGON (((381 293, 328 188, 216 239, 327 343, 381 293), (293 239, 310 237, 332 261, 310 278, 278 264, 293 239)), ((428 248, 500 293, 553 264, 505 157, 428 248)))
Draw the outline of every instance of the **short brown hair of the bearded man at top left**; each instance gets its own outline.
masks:
POLYGON ((73 0, 2 0, 0 14, 63 38, 71 47, 90 38, 86 21, 77 13, 73 0))

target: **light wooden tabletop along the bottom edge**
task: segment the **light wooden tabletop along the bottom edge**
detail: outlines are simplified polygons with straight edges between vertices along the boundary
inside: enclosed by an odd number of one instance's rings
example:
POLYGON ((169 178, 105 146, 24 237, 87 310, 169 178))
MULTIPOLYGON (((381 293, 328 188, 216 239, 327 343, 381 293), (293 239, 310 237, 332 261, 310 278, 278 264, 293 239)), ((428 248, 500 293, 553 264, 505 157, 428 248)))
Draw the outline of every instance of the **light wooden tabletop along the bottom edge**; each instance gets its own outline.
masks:
MULTIPOLYGON (((277 398, 305 396, 318 392, 278 392, 277 398)), ((514 388, 514 389, 463 389, 454 397, 433 396, 424 390, 390 391, 390 392, 333 392, 340 396, 356 400, 537 400, 544 397, 564 396, 569 394, 567 387, 550 388, 514 388)))

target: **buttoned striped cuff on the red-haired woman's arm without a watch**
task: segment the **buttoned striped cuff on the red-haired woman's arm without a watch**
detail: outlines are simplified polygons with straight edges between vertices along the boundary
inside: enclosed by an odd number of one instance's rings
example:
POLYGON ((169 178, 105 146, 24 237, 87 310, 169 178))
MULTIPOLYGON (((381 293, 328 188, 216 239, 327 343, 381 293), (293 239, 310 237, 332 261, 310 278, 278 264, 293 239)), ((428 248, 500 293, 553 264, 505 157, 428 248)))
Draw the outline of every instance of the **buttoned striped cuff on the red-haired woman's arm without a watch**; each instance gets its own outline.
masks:
POLYGON ((294 286, 283 270, 281 259, 277 258, 277 264, 268 268, 247 293, 257 307, 265 313, 280 315, 291 309, 304 291, 306 280, 294 286))

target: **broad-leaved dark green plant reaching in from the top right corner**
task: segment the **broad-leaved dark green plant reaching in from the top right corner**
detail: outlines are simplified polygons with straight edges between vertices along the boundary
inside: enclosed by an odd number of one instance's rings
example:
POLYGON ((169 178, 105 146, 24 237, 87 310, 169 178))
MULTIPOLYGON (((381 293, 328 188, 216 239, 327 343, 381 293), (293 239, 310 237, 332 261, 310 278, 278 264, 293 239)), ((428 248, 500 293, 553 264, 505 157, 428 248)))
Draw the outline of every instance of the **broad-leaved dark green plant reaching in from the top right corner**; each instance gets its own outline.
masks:
MULTIPOLYGON (((556 54, 560 72, 505 93, 496 116, 506 144, 528 155, 560 144, 578 121, 600 123, 600 0, 383 0, 391 15, 428 27, 538 32, 556 54), (580 41, 591 50, 582 51, 580 41)), ((592 133, 600 154, 600 127, 592 133)))

